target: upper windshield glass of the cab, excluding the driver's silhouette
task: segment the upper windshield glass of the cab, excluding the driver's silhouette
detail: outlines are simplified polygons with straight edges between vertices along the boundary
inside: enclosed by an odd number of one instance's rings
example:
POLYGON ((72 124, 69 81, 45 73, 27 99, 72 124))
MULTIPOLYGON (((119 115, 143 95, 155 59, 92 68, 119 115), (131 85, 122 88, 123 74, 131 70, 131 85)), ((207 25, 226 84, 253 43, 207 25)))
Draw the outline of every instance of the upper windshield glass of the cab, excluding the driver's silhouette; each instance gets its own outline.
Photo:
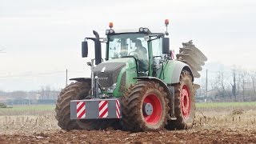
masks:
MULTIPOLYGON (((144 52, 146 53, 143 57, 146 57, 145 59, 148 59, 148 45, 147 42, 144 39, 144 36, 146 34, 116 34, 116 35, 110 35, 108 40, 108 53, 107 58, 113 59, 113 58, 122 58, 127 56, 134 56, 136 49, 138 48, 137 42, 140 42, 142 47, 145 48, 144 52)), ((137 57, 137 56, 136 56, 137 57)), ((144 59, 144 58, 143 58, 144 59)))

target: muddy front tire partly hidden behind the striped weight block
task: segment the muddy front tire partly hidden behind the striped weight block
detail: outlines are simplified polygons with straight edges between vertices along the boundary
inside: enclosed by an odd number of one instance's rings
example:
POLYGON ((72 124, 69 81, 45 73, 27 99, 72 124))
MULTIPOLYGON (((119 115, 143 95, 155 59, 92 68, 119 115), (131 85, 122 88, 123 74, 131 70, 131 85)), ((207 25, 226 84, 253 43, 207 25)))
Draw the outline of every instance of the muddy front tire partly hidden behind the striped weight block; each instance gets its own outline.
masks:
POLYGON ((106 122, 102 120, 71 120, 70 101, 88 99, 90 84, 75 82, 66 86, 58 96, 55 112, 58 126, 62 130, 99 130, 106 128, 106 122))

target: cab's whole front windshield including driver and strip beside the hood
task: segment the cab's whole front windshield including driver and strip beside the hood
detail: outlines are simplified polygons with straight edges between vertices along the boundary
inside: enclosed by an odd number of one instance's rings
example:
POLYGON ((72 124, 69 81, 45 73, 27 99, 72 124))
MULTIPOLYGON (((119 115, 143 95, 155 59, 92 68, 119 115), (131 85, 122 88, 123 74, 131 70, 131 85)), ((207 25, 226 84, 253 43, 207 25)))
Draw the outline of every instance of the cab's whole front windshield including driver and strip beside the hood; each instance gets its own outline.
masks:
POLYGON ((138 74, 148 75, 149 46, 144 39, 146 34, 124 33, 108 35, 106 60, 115 58, 134 58, 138 65, 138 74))

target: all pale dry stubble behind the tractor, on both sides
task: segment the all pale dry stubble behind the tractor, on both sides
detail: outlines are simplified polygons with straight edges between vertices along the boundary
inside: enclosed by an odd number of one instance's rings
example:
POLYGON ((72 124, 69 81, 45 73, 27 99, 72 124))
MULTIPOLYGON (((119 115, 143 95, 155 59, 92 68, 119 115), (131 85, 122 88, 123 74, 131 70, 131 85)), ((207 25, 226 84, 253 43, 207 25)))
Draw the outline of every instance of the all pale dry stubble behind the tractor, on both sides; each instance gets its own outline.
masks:
MULTIPOLYGON (((195 130, 256 130, 255 106, 199 107, 195 130)), ((54 106, 45 108, 0 109, 0 134, 34 134, 60 130, 54 106)))

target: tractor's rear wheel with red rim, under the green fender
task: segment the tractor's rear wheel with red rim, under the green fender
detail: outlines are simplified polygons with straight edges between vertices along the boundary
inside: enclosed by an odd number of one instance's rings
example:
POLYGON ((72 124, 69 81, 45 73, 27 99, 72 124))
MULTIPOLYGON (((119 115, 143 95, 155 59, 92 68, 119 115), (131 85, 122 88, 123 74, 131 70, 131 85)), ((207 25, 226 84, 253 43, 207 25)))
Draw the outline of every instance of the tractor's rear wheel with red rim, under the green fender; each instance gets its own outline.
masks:
POLYGON ((179 83, 174 86, 174 110, 177 120, 168 121, 167 129, 190 129, 194 125, 194 89, 190 73, 182 70, 179 83))

